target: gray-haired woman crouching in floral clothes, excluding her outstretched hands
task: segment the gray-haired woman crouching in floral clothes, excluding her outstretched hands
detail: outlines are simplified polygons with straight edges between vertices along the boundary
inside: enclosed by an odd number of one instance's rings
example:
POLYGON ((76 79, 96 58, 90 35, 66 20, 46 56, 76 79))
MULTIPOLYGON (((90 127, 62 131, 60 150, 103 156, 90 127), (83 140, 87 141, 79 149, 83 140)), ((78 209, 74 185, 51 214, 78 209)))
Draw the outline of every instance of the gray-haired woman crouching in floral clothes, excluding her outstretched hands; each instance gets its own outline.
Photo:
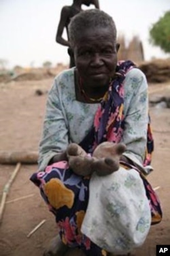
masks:
POLYGON ((118 62, 116 25, 105 12, 87 10, 74 16, 69 38, 76 67, 54 79, 39 145, 39 172, 31 176, 59 228, 62 242, 54 242, 50 255, 64 255, 69 247, 93 256, 126 254, 143 244, 151 225, 140 175, 148 84, 131 61, 118 62), (75 174, 69 167, 70 144, 79 145, 90 159, 103 142, 126 145, 119 170, 104 176, 97 170, 90 176, 75 174))

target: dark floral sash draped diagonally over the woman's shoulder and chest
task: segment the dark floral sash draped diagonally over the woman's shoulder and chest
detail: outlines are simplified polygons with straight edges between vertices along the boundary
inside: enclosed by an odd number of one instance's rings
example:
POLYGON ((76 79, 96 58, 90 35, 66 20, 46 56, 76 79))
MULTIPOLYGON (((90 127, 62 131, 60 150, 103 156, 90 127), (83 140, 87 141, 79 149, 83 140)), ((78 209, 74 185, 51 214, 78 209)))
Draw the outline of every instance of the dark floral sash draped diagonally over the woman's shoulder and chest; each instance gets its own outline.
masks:
POLYGON ((118 62, 116 76, 109 86, 97 113, 92 130, 80 143, 88 153, 102 142, 118 143, 124 131, 124 88, 123 82, 127 71, 135 67, 131 61, 118 62))

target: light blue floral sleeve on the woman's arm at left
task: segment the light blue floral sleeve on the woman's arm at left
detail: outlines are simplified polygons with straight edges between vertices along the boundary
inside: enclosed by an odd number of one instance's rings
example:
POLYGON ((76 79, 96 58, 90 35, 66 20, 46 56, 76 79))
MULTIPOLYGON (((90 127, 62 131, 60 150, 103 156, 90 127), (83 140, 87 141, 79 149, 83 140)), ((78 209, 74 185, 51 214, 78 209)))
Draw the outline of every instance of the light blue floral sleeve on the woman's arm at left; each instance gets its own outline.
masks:
POLYGON ((43 133, 39 144, 39 170, 56 161, 67 160, 65 150, 69 144, 68 129, 61 108, 58 78, 48 94, 43 133))

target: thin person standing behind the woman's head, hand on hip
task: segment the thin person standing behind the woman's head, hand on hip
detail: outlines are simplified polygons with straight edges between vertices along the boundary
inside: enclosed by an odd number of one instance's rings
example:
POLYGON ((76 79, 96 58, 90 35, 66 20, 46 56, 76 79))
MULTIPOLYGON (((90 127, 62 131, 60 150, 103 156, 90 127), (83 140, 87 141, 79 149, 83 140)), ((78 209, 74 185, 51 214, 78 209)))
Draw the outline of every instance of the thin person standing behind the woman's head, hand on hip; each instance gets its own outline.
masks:
POLYGON ((68 46, 68 53, 70 57, 69 61, 69 67, 74 67, 74 57, 73 52, 70 48, 69 43, 69 32, 68 32, 68 26, 71 18, 78 14, 79 12, 82 12, 82 4, 86 6, 90 6, 90 4, 95 5, 95 8, 99 9, 99 1, 98 0, 73 0, 73 4, 70 6, 64 6, 61 10, 61 18, 58 23, 58 28, 56 31, 56 43, 61 44, 63 46, 68 46), (67 32, 67 39, 63 38, 63 32, 64 29, 66 29, 67 32))

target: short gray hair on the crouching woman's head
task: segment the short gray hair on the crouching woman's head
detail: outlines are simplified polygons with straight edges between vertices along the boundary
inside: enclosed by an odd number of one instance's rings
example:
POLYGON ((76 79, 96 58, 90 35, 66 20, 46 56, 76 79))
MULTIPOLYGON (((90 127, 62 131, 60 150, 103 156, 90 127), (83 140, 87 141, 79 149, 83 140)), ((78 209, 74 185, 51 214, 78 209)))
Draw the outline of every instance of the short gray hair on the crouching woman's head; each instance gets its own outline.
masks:
POLYGON ((82 31, 91 28, 95 29, 96 27, 109 27, 112 30, 116 43, 117 31, 112 17, 101 10, 91 9, 82 11, 71 18, 71 22, 69 23, 69 42, 71 47, 75 45, 82 31))

